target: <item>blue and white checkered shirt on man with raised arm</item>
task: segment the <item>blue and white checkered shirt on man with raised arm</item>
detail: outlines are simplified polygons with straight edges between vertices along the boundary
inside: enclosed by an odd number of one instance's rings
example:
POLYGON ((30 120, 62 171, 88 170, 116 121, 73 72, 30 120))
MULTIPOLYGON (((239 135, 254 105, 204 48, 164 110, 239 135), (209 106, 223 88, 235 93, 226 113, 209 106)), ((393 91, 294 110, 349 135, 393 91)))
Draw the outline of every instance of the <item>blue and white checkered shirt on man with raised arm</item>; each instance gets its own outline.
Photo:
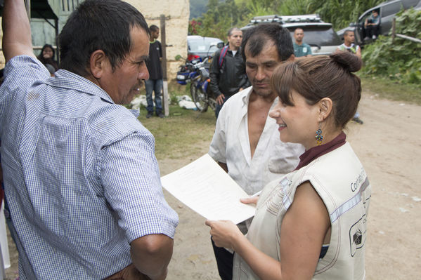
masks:
POLYGON ((18 56, 0 88, 1 164, 20 279, 103 279, 129 243, 174 237, 153 135, 82 76, 18 56))

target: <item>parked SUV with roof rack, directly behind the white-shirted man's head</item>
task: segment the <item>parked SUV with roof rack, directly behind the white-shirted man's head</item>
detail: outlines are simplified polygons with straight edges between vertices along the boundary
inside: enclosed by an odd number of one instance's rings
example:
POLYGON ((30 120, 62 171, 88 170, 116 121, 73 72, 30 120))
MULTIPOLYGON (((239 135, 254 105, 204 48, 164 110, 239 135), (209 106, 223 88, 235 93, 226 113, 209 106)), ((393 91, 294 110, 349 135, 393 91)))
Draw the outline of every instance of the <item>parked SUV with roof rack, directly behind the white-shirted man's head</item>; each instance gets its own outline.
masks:
POLYGON ((332 24, 323 22, 320 16, 311 15, 263 15, 252 18, 250 23, 242 30, 258 25, 263 22, 277 22, 287 28, 294 41, 294 30, 301 28, 304 31, 304 43, 311 46, 313 55, 329 55, 334 53, 337 47, 342 44, 339 36, 332 28, 332 24))

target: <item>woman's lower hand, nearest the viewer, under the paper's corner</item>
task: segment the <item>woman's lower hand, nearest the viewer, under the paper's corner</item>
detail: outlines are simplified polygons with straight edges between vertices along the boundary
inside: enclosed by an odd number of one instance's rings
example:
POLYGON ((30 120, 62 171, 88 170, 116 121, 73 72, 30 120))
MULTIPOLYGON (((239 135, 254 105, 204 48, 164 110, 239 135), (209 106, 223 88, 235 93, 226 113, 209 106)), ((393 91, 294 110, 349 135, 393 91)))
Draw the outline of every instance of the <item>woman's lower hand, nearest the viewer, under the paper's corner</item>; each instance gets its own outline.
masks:
POLYGON ((237 225, 230 220, 206 220, 205 225, 211 228, 212 240, 218 247, 229 248, 235 251, 236 242, 244 238, 237 225))

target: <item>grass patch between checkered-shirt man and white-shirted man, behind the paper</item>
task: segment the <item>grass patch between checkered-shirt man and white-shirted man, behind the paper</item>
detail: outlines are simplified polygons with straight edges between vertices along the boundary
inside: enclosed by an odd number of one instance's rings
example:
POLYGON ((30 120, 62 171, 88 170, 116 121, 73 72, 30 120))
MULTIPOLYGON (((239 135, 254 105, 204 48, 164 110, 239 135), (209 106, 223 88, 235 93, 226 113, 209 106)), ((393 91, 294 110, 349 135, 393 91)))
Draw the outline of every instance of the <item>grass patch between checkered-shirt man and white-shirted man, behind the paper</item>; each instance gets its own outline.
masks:
MULTIPOLYGON (((186 87, 184 87, 186 88, 186 87)), ((169 90, 170 95, 185 95, 184 91, 169 90)), ((172 98, 171 98, 172 99, 172 98)), ((148 128, 155 137, 155 156, 160 159, 177 159, 197 154, 200 145, 209 145, 215 131, 216 118, 214 111, 199 113, 183 109, 178 104, 169 105, 169 116, 160 119, 153 116, 146 119, 146 108, 141 107, 139 121, 148 128)))

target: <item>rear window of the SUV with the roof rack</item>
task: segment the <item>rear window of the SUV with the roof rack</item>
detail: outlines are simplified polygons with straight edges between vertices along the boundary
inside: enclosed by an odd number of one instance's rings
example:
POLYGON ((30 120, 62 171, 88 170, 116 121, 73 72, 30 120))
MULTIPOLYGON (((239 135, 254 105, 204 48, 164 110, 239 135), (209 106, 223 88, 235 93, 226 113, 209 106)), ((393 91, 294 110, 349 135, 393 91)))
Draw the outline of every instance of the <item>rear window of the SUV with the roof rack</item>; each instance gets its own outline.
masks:
MULTIPOLYGON (((294 29, 297 27, 287 27, 290 30, 291 37, 294 40, 294 29)), ((305 26, 304 30, 304 43, 310 46, 339 46, 342 44, 341 39, 337 36, 332 27, 326 26, 305 26)))

